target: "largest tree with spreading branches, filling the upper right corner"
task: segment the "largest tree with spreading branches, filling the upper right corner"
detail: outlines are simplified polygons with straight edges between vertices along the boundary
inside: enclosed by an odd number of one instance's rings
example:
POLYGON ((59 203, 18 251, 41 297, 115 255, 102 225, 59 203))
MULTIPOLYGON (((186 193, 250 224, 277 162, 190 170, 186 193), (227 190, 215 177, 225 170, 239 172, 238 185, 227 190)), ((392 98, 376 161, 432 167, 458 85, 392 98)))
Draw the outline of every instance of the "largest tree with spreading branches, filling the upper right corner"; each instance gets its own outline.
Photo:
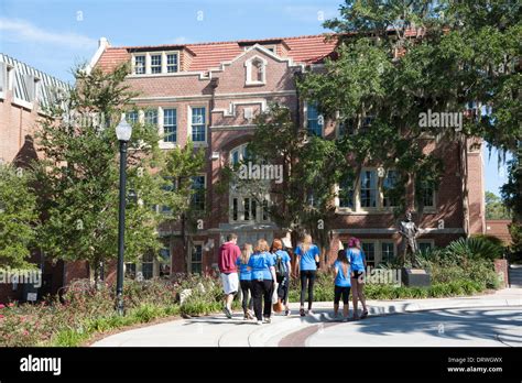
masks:
POLYGON ((338 33, 335 57, 306 75, 300 91, 326 118, 339 116, 356 166, 399 171, 394 192, 403 200, 405 182, 420 188, 441 177, 442 161, 423 152, 426 138, 453 141, 465 153, 474 136, 501 152, 516 150, 519 10, 500 0, 347 0, 340 18, 324 24, 338 33), (457 129, 422 127, 427 110, 465 119, 457 129))

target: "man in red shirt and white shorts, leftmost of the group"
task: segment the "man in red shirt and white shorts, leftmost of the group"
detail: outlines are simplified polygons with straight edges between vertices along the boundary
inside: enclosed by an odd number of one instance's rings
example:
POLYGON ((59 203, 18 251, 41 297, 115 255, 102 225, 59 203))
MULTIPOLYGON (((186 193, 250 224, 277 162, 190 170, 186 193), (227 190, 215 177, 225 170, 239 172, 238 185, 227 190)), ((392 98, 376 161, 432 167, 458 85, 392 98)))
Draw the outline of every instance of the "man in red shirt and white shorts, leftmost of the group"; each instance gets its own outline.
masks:
POLYGON ((227 242, 219 248, 218 266, 221 273, 222 291, 225 292, 225 307, 222 308, 227 318, 232 317, 232 300, 238 293, 239 277, 236 261, 241 251, 238 247, 238 236, 230 233, 227 236, 227 242))

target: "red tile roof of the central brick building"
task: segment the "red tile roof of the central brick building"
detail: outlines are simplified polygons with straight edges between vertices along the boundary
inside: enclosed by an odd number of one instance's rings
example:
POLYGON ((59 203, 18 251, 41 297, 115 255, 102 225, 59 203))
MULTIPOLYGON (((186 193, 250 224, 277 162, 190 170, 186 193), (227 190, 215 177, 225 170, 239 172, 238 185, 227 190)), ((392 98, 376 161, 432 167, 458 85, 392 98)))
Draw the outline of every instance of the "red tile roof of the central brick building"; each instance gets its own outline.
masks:
POLYGON ((243 52, 248 43, 260 43, 281 41, 290 48, 287 56, 295 63, 315 64, 320 63, 326 56, 330 55, 336 46, 335 39, 325 40, 325 34, 297 36, 297 37, 274 37, 263 40, 240 40, 232 42, 199 43, 199 44, 172 44, 172 45, 151 45, 151 46, 120 46, 108 47, 101 54, 97 66, 105 70, 113 69, 118 64, 130 59, 130 52, 148 48, 186 48, 194 56, 188 70, 205 72, 216 68, 219 64, 229 62, 243 52))

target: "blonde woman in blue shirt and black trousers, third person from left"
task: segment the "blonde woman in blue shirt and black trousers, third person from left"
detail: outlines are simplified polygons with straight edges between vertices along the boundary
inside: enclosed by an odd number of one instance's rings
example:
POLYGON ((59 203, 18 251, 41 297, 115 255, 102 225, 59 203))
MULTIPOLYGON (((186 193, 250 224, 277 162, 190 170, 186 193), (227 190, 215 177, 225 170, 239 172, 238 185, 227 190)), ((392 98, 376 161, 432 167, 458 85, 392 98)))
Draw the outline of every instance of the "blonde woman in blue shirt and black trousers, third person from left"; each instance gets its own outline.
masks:
POLYGON ((252 272, 253 311, 258 325, 270 324, 272 316, 272 294, 274 288, 275 269, 274 258, 269 253, 269 244, 264 239, 258 240, 253 254, 248 261, 248 269, 252 272), (263 307, 264 300, 264 307, 263 307))

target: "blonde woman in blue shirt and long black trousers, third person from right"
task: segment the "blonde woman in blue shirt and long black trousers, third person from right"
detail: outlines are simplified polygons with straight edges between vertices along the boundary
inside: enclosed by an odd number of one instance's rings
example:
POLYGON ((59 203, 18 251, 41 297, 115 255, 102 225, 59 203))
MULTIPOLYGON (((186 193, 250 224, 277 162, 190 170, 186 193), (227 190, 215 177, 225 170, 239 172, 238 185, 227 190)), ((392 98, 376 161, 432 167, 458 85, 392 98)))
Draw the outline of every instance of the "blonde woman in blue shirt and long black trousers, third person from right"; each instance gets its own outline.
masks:
POLYGON ((312 303, 314 302, 314 283, 317 274, 317 264, 319 263, 319 248, 312 243, 312 236, 306 234, 301 243, 295 249, 296 262, 295 273, 300 271, 301 278, 301 308, 300 315, 305 316, 304 300, 306 288, 308 289, 308 315, 312 311, 312 303))

